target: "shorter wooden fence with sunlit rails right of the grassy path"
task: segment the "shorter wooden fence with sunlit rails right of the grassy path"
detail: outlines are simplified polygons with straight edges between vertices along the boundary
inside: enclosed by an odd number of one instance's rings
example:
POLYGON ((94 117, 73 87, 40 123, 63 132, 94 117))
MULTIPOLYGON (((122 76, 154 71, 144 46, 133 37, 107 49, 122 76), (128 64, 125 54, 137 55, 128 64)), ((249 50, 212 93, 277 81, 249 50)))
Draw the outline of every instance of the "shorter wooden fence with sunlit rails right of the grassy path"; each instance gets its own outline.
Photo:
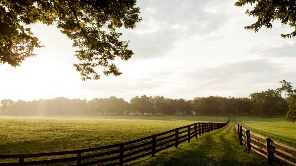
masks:
POLYGON ((234 123, 234 126, 237 131, 240 145, 246 145, 248 153, 252 150, 266 157, 268 165, 276 163, 277 165, 296 166, 296 156, 293 154, 296 152, 296 148, 249 131, 238 123, 234 123))

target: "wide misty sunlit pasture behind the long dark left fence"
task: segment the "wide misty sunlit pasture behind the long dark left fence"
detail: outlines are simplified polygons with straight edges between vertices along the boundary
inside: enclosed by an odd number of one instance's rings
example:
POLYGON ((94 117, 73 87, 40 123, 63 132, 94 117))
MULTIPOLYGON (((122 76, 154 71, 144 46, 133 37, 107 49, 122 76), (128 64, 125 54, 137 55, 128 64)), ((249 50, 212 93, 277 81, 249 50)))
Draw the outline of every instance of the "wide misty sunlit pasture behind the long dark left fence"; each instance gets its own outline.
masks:
MULTIPOLYGON (((227 119, 228 117, 221 116, 194 115, 0 117, 0 154, 30 154, 99 147, 139 139, 195 122, 226 122, 227 119)), ((54 156, 42 159, 54 159, 54 156)), ((0 159, 0 162, 5 160, 0 159)))

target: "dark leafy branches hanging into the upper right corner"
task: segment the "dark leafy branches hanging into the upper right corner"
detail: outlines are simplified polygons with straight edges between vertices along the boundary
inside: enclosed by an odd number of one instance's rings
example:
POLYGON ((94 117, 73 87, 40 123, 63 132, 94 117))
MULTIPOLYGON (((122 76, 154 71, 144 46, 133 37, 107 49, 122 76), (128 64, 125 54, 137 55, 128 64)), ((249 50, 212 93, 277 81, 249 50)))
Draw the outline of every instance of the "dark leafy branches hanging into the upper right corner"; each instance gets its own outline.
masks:
MULTIPOLYGON (((234 5, 241 7, 245 4, 255 4, 253 10, 247 9, 246 14, 258 17, 258 20, 251 26, 244 27, 247 30, 258 32, 263 25, 266 28, 272 29, 271 22, 274 20, 280 20, 283 26, 289 25, 296 28, 296 1, 238 0, 234 5)), ((296 30, 288 34, 281 34, 283 38, 294 38, 295 35, 296 30)))

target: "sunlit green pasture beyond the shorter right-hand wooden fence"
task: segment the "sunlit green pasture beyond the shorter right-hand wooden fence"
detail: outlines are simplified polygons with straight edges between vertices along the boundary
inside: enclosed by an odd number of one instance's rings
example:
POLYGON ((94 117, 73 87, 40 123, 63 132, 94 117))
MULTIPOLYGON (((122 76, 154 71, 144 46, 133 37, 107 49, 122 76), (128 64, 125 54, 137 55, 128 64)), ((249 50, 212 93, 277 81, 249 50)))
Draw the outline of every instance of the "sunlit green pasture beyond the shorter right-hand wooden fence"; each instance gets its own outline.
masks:
POLYGON ((284 116, 236 116, 235 121, 250 131, 296 147, 296 123, 286 122, 284 116))

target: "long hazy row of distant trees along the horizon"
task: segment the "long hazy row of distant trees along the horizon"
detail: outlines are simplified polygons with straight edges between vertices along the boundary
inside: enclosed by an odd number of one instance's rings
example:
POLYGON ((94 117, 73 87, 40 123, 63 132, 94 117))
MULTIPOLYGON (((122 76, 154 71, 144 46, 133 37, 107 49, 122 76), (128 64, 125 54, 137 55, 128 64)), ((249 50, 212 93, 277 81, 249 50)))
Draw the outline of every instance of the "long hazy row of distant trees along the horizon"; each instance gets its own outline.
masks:
POLYGON ((1 115, 285 115, 290 97, 268 89, 247 97, 196 97, 193 100, 163 96, 123 98, 68 99, 58 97, 33 101, 1 100, 1 115))

